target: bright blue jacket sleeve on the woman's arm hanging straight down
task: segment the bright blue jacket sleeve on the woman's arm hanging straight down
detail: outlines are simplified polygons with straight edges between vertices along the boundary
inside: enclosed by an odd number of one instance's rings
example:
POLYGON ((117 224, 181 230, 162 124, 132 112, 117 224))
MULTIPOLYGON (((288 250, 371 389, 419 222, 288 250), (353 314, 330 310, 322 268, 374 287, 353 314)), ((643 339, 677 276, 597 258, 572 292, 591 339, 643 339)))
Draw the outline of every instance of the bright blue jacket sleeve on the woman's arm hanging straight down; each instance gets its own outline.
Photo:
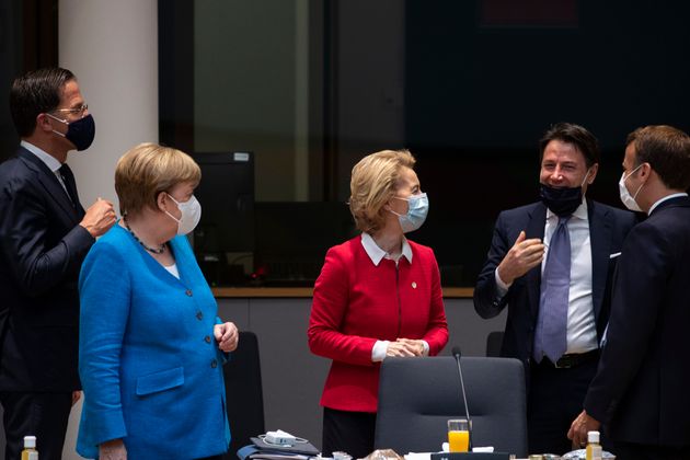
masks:
POLYGON ((80 276, 79 375, 88 398, 83 421, 95 435, 94 445, 127 435, 119 388, 131 291, 126 267, 115 248, 96 244, 80 276))

